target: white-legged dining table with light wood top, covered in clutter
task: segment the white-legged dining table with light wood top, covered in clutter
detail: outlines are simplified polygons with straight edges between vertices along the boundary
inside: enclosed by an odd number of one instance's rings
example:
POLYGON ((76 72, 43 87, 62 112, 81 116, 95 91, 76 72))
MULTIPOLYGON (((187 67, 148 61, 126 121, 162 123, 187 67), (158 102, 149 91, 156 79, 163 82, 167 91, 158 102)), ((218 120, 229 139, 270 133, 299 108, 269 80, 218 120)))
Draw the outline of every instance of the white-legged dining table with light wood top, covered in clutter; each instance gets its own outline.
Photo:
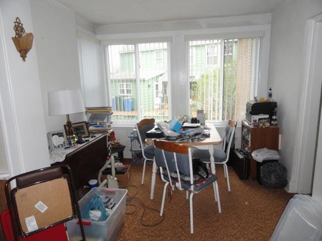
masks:
MULTIPOLYGON (((209 128, 209 126, 208 126, 208 128, 209 128)), ((219 133, 217 132, 217 130, 216 130, 214 125, 211 125, 211 127, 209 129, 208 130, 210 132, 210 136, 205 138, 202 141, 193 142, 193 141, 190 141, 189 139, 187 139, 187 141, 183 141, 183 142, 181 141, 181 142, 178 142, 178 144, 185 145, 185 146, 188 146, 188 147, 195 147, 195 148, 203 149, 203 150, 208 149, 209 154, 210 154, 210 169, 211 169, 211 172, 213 174, 216 174, 215 160, 214 160, 214 157, 213 157, 213 145, 220 144, 221 143, 221 138, 220 138, 219 133)), ((206 130, 207 129, 205 129, 205 131, 206 130)), ((151 145, 152 140, 151 139, 145 139, 145 144, 146 145, 151 145)), ((154 195, 156 170, 157 170, 157 167, 156 167, 156 164, 155 164, 155 160, 153 158, 150 199, 153 199, 153 195, 154 195)))

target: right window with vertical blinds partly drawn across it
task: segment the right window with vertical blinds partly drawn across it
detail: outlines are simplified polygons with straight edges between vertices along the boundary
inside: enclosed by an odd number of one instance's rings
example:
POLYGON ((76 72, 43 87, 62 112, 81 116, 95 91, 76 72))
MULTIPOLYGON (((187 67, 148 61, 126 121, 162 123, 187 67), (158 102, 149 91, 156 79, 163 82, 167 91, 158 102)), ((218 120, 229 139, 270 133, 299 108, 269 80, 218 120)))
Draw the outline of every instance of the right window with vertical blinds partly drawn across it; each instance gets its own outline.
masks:
POLYGON ((259 38, 189 41, 197 62, 189 61, 190 114, 203 109, 208 121, 244 119, 246 102, 253 98, 259 38), (198 58, 206 53, 206 58, 198 58), (222 56, 222 57, 221 57, 222 56))

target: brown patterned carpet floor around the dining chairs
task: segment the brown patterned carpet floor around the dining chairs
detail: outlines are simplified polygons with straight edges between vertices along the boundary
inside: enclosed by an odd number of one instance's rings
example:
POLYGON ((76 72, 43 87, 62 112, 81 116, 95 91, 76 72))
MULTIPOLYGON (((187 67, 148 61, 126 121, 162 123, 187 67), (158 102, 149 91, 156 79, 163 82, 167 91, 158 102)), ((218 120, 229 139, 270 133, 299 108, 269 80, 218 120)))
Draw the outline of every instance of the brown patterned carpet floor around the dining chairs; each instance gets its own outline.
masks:
POLYGON ((288 201, 294 194, 284 189, 265 189, 256 180, 240 180, 228 167, 231 192, 227 190, 222 165, 216 165, 221 213, 214 200, 212 185, 193 197, 194 234, 190 234, 189 200, 186 192, 176 189, 166 196, 164 220, 159 210, 164 182, 157 173, 154 199, 150 200, 151 165, 146 166, 144 184, 141 185, 142 165, 131 166, 129 186, 126 188, 133 201, 127 205, 124 223, 116 240, 269 240, 288 201), (134 185, 134 186, 130 186, 134 185), (136 200, 136 201, 135 201, 136 200))

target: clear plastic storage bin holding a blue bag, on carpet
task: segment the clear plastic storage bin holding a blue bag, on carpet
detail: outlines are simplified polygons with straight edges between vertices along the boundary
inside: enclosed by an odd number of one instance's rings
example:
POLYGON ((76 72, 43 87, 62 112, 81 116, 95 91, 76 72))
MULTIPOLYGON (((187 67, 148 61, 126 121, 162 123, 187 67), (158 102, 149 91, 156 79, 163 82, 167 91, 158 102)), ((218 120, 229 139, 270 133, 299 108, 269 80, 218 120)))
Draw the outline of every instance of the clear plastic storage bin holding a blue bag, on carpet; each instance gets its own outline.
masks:
MULTIPOLYGON (((113 210, 109 212, 109 217, 105 221, 83 219, 83 221, 89 221, 91 223, 91 225, 84 225, 86 239, 96 241, 114 240, 123 225, 127 190, 100 187, 93 188, 78 201, 79 209, 82 210, 95 193, 112 197, 116 205, 113 210)), ((81 240, 82 237, 81 229, 79 229, 76 222, 77 220, 73 219, 66 223, 70 241, 81 240)))

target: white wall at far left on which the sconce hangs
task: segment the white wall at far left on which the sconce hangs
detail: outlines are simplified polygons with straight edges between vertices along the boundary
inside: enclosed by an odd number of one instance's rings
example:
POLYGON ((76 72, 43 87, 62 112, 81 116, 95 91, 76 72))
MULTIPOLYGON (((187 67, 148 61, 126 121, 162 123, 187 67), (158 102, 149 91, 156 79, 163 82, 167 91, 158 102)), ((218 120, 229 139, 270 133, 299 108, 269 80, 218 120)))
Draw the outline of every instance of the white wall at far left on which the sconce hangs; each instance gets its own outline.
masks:
POLYGON ((0 118, 11 176, 49 166, 37 46, 23 62, 11 39, 16 17, 34 32, 29 1, 0 1, 0 118))

